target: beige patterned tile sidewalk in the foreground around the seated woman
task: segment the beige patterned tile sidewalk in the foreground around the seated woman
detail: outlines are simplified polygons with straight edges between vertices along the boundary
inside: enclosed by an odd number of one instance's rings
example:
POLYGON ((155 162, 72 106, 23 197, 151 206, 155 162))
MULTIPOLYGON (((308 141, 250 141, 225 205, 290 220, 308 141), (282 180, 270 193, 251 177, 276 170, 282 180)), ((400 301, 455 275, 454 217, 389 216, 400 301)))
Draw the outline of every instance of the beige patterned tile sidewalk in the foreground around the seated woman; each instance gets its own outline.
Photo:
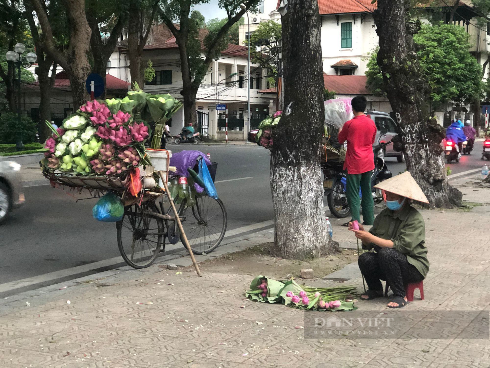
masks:
MULTIPOLYGON (((490 207, 422 211, 425 300, 402 310, 490 310, 490 207)), ((334 236, 343 236, 336 227, 334 236)), ((345 230, 346 231, 346 230, 345 230)), ((245 300, 253 276, 175 274, 73 287, 0 317, 1 367, 489 367, 488 339, 304 339, 303 312, 245 300), (173 284, 173 285, 169 285, 173 284), (67 301, 70 300, 70 304, 67 301)), ((142 277, 143 276, 143 277, 142 277)), ((351 280, 360 285, 361 279, 351 280)), ((386 311, 384 298, 359 311, 386 311)), ((308 312, 319 316, 331 313, 308 312)), ((391 312, 390 312, 391 313, 391 312)), ((347 317, 348 312, 335 315, 347 317)), ((417 314, 416 314, 417 315, 417 314)), ((427 322, 427 331, 436 328, 427 322)))

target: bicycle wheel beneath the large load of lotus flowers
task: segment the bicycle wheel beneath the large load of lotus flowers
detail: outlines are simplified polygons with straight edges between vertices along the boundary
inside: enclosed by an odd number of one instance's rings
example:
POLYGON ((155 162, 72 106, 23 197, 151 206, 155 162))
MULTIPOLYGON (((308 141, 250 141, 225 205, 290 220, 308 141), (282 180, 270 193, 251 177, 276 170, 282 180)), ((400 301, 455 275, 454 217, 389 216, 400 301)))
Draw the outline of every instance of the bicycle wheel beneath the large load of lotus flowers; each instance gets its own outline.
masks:
POLYGON ((123 219, 116 223, 118 247, 124 261, 134 268, 148 267, 158 257, 163 238, 163 220, 145 213, 161 213, 153 202, 124 209, 123 219))

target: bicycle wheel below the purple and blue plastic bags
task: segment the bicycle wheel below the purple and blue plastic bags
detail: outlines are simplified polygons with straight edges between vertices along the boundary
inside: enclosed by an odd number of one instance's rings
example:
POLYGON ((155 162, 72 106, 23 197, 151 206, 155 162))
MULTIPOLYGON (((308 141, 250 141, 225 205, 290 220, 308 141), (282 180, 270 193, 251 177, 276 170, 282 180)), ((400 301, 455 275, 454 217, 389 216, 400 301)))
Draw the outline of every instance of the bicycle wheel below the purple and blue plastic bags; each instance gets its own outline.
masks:
MULTIPOLYGON (((193 207, 185 208, 183 203, 179 214, 183 218, 182 227, 194 253, 210 253, 220 245, 228 223, 221 199, 208 196, 196 198, 193 207)), ((180 240, 184 243, 182 236, 180 240)))

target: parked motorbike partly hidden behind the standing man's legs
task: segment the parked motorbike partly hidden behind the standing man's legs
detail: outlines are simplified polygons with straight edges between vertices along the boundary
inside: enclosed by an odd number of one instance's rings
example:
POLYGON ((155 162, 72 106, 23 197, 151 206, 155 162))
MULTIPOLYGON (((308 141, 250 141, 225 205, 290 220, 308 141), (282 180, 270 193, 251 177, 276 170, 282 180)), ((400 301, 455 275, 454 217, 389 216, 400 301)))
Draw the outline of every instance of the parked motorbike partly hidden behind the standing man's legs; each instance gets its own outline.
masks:
MULTIPOLYGON (((381 136, 384 134, 381 133, 381 136)), ((378 141, 378 145, 373 147, 374 171, 371 174, 371 195, 374 199, 374 204, 381 203, 384 200, 381 190, 374 188, 374 185, 392 177, 392 173, 388 169, 383 155, 383 149, 389 143, 380 143, 378 141)), ((343 170, 343 162, 323 162, 322 170, 324 176, 324 195, 327 196, 327 205, 330 213, 338 218, 347 217, 350 214, 350 207, 346 196, 347 171, 343 170)), ((361 196, 362 194, 359 190, 359 197, 361 196)))

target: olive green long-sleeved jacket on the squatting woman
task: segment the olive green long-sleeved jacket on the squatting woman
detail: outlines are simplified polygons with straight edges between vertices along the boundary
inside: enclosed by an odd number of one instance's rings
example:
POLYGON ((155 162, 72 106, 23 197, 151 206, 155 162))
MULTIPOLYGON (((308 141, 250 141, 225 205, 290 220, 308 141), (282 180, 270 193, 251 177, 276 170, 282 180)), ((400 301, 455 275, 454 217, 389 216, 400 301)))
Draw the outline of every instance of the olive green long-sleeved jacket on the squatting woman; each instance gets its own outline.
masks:
MULTIPOLYGON (((422 215, 412 206, 404 206, 398 213, 392 210, 382 210, 374 219, 369 233, 383 239, 390 239, 393 248, 407 256, 410 264, 417 267, 423 277, 429 271, 427 248, 425 247, 425 223, 422 215)), ((371 249, 374 244, 364 249, 371 249)))

